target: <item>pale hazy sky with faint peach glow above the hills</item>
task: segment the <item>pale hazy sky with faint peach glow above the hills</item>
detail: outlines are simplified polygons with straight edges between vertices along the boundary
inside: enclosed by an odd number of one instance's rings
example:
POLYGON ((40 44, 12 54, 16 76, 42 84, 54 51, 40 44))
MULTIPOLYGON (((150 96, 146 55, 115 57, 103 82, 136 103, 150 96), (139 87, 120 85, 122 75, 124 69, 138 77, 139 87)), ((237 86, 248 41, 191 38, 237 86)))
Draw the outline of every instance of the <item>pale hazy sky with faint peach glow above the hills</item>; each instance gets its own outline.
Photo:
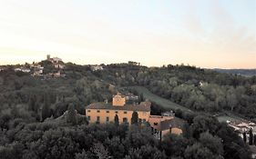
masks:
POLYGON ((256 68, 256 0, 0 0, 0 65, 256 68))

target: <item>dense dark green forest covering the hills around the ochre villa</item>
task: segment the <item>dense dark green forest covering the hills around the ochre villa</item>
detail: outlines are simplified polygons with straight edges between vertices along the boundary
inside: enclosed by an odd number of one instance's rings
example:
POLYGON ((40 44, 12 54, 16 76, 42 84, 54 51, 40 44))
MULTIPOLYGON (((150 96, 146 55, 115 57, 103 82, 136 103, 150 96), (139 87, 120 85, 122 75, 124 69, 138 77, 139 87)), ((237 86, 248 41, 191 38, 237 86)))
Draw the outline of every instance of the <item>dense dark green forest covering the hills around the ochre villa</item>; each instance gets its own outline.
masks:
MULTIPOLYGON (((46 73, 56 68, 44 63, 46 73)), ((201 113, 227 111, 255 120, 256 76, 218 73, 189 65, 65 64, 65 77, 0 72, 0 158, 250 158, 248 145, 227 124, 201 113), (194 110, 179 115, 183 134, 156 140, 148 125, 87 124, 87 104, 111 101, 132 85, 194 110)), ((44 74, 46 74, 44 73, 44 74)), ((138 94, 139 95, 139 94, 138 94)), ((145 100, 140 96, 139 100, 145 100)), ((163 111, 152 105, 152 114, 163 111)), ((256 142, 254 142, 256 143, 256 142)))

